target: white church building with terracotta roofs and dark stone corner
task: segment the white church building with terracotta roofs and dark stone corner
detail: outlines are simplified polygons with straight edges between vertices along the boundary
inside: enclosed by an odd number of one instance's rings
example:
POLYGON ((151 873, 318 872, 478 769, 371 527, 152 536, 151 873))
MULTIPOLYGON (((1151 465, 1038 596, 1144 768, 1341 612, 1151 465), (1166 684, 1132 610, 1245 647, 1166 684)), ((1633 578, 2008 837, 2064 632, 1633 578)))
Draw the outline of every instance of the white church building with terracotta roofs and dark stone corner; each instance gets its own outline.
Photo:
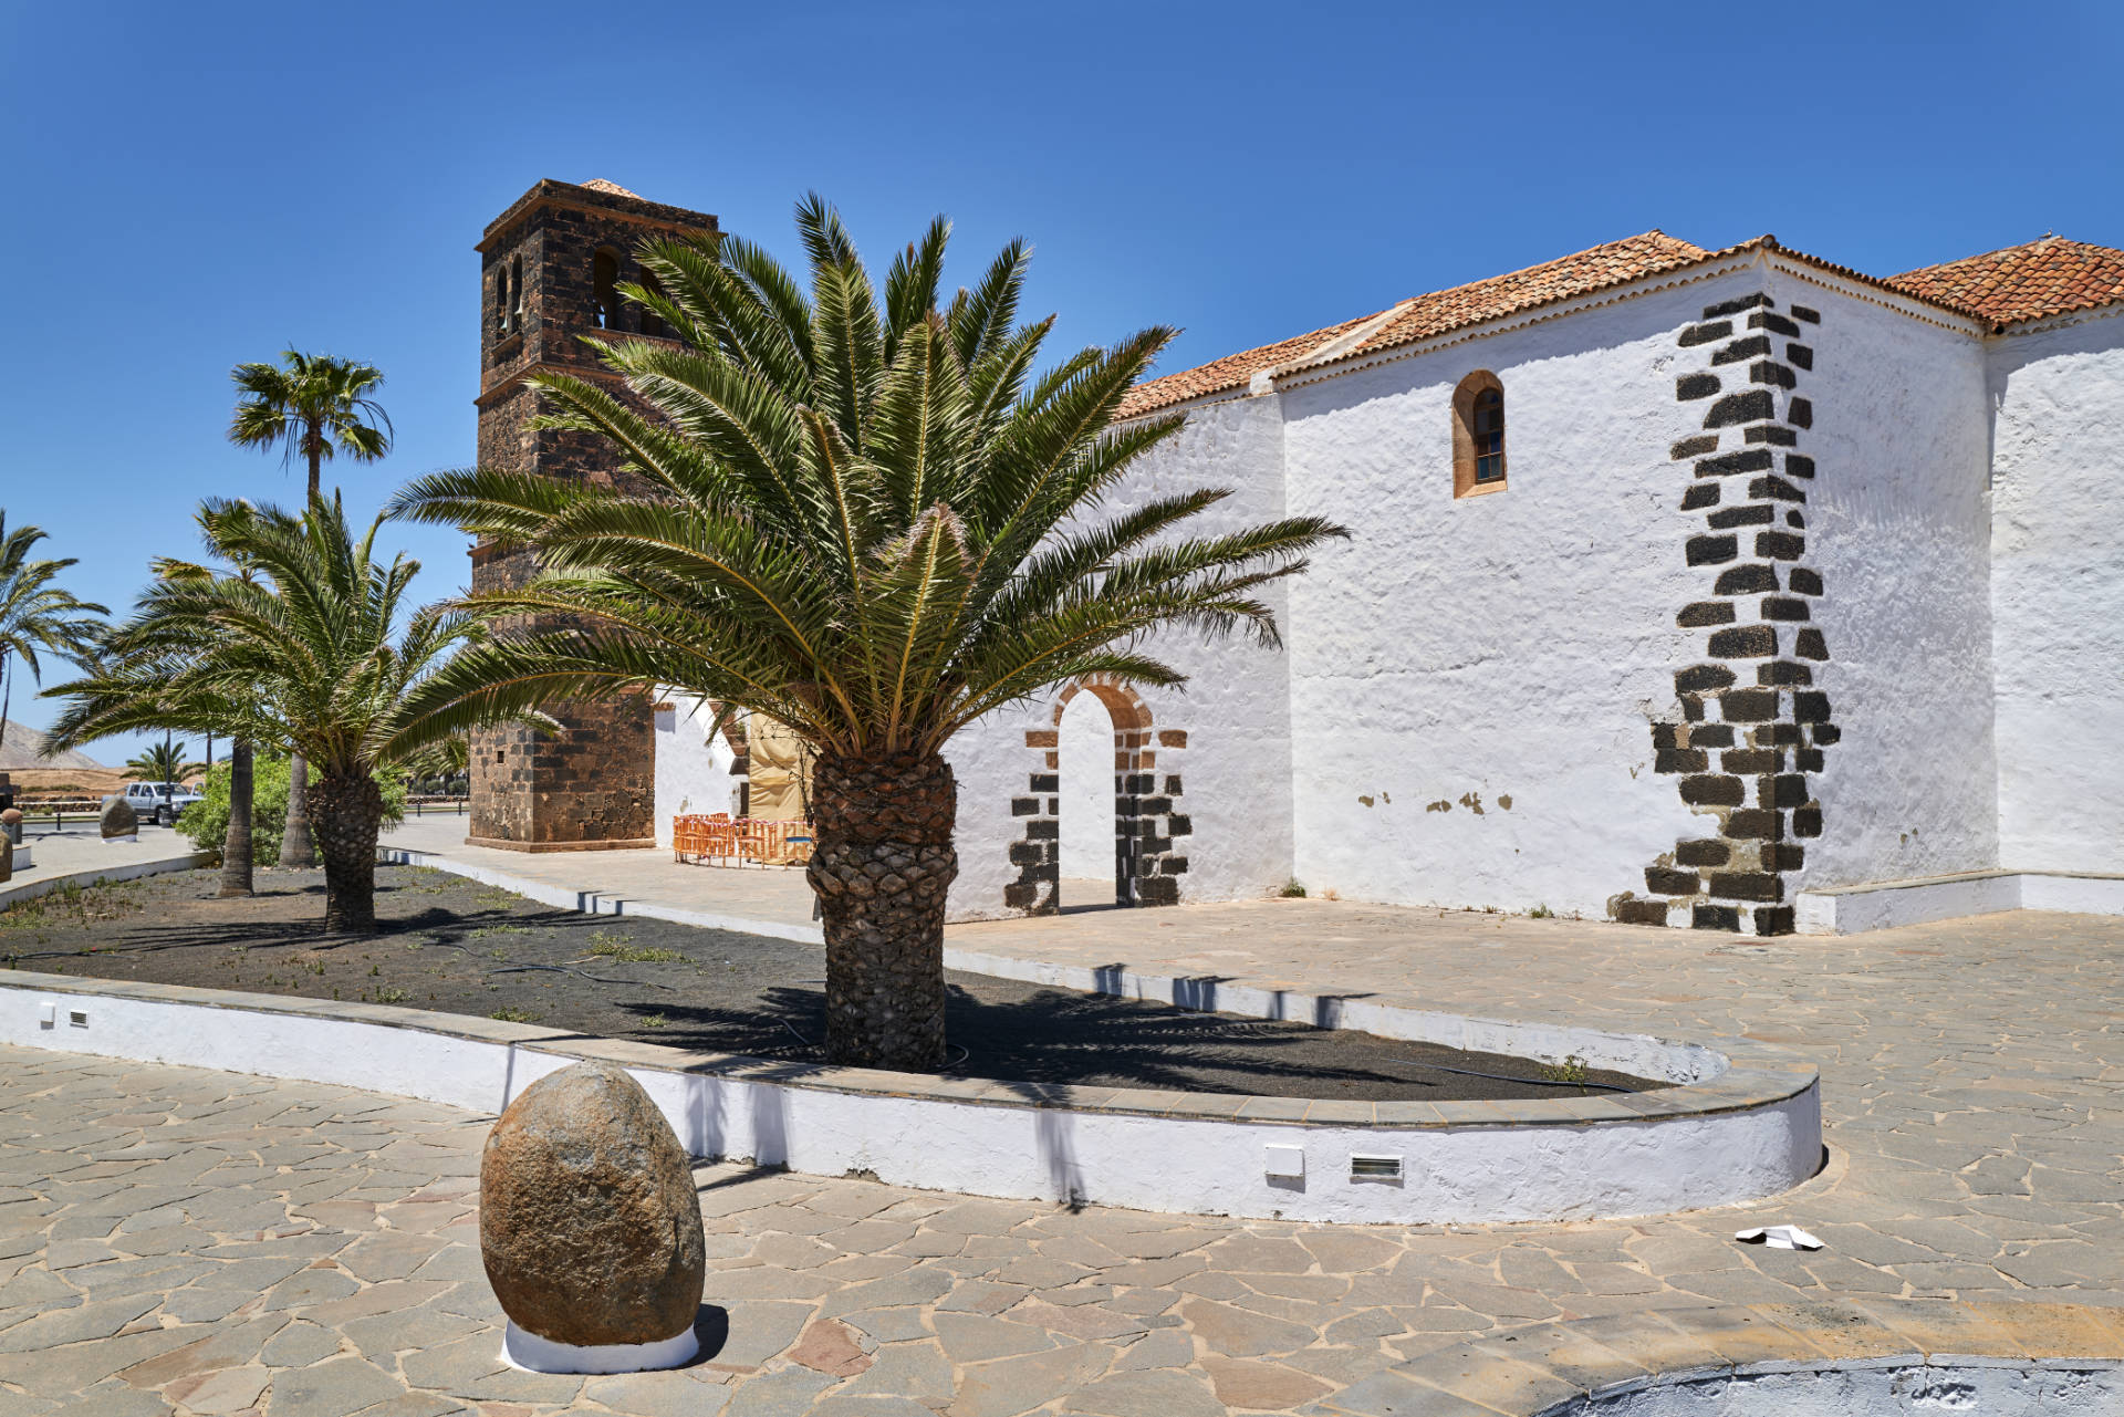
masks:
MULTIPOLYGON (((952 748, 954 918, 1344 901, 1782 935, 2124 911, 2124 251, 1646 232, 1136 389, 1117 497, 1351 527, 1283 648, 952 748)), ((656 722, 656 820, 729 807, 656 722)))

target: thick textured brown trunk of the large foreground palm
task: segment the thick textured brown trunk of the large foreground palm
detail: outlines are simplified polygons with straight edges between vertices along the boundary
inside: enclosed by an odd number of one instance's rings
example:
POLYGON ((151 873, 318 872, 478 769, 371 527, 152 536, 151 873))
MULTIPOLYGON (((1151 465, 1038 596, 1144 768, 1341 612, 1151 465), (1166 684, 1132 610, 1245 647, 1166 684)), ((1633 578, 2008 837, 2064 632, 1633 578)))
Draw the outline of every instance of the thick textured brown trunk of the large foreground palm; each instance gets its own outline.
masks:
POLYGON ((937 754, 820 758, 811 890, 826 928, 826 1058, 943 1066, 943 903, 958 782, 937 754))

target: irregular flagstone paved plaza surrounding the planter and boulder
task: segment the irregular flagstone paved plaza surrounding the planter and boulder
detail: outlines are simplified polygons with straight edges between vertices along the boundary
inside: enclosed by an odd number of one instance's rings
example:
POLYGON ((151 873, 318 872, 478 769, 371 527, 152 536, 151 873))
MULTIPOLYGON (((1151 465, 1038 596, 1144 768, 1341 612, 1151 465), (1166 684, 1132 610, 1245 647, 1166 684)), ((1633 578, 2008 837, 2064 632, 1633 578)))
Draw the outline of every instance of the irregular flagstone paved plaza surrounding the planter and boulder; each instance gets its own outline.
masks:
POLYGON ((1489 1228, 1070 1213, 712 1166, 714 1353, 565 1379, 497 1358, 474 1217, 486 1117, 0 1052, 0 1417, 1483 1413, 1446 1392, 1410 1406, 1434 1389, 1393 1368, 1495 1330, 1712 1304, 2124 1313, 2116 920, 1748 941, 1306 901, 954 926, 949 943, 1740 1035, 1820 1064, 1831 1160, 1754 1207, 1489 1228), (1731 1241, 1776 1219, 1827 1249, 1731 1241))

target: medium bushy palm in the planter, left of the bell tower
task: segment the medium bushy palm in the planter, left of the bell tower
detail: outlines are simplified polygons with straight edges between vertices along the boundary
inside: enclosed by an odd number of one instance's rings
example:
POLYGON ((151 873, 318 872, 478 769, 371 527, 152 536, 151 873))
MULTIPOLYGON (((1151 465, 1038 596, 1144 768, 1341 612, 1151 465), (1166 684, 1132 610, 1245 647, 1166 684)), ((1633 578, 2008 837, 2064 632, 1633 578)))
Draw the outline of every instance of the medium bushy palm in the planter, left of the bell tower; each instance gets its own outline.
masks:
POLYGON ((70 699, 53 737, 215 729, 304 754, 319 773, 325 928, 370 931, 384 812, 376 769, 446 733, 414 722, 406 699, 478 625, 429 605, 393 635, 421 563, 380 563, 382 518, 355 540, 338 497, 304 516, 208 501, 200 525, 208 548, 251 578, 166 576, 149 586, 104 671, 47 690, 70 699))

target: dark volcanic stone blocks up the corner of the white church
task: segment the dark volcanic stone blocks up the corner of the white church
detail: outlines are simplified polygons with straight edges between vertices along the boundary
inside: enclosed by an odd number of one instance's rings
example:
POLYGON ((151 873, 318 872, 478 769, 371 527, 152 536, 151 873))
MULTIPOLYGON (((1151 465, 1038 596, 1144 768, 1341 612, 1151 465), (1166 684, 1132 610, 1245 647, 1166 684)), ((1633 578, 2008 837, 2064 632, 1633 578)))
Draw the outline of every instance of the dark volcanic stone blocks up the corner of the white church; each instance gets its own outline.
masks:
MULTIPOLYGON (((1820 317, 1808 310, 1803 319, 1818 323, 1820 317)), ((1810 622, 1810 603, 1799 599, 1822 595, 1820 574, 1805 565, 1805 516, 1799 512, 1808 499, 1803 480, 1816 476, 1816 465, 1803 453, 1786 453, 1786 476, 1771 474, 1771 446, 1795 446, 1814 421, 1808 399, 1793 393, 1799 374, 1814 368, 1814 351, 1791 344, 1791 363, 1765 359, 1774 353, 1771 336, 1793 336, 1799 327, 1776 314, 1761 293, 1708 306, 1703 321, 1686 327, 1676 344, 1695 348, 1699 361, 1708 353, 1710 363, 1678 374, 1676 397, 1710 397, 1720 385, 1712 368, 1752 361, 1748 380, 1754 387, 1718 397, 1703 427, 1746 423, 1744 444, 1757 446, 1706 457, 1693 470, 1695 478, 1750 474, 1746 482, 1693 482, 1680 501, 1691 520, 1682 559, 1708 574, 1710 597, 1676 612, 1678 627, 1701 629, 1706 637, 1695 663, 1674 671, 1682 718, 1652 724, 1652 769, 1674 775, 1691 812, 1714 818, 1718 831, 1678 841, 1672 856, 1644 869, 1650 899, 1625 890, 1610 914, 1631 924, 1782 935, 1795 918, 1786 903, 1791 873, 1805 860, 1786 837, 1822 833, 1808 773, 1820 771, 1822 746, 1837 741, 1829 695, 1814 688, 1812 667, 1829 659, 1829 644, 1810 622), (1725 338, 1729 327, 1720 325, 1731 317, 1746 317, 1750 334, 1697 348, 1725 338), (1706 486, 1723 495, 1706 497, 1706 486), (1744 554, 1752 559, 1735 565, 1744 554), (1795 622, 1803 629, 1786 631, 1795 635, 1793 659, 1780 659, 1786 642, 1778 629, 1795 622), (1742 686, 1742 673, 1754 686, 1742 686), (1710 750, 1720 750, 1716 771, 1710 750)), ((1674 444, 1676 459, 1714 450, 1716 442, 1703 438, 1674 444)))

